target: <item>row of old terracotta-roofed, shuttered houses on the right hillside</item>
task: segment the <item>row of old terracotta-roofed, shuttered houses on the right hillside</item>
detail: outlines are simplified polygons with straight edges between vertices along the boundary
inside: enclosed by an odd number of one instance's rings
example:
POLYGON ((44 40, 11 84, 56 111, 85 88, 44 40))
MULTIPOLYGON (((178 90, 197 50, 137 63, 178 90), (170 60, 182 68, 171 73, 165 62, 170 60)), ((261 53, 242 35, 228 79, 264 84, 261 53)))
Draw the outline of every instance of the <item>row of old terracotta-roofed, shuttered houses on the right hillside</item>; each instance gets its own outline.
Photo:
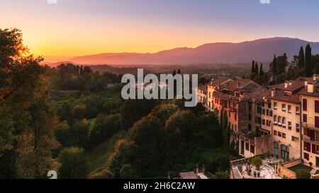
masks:
POLYGON ((318 78, 264 88, 247 79, 220 77, 198 88, 198 99, 219 119, 227 114, 230 143, 241 156, 269 154, 319 168, 318 78))

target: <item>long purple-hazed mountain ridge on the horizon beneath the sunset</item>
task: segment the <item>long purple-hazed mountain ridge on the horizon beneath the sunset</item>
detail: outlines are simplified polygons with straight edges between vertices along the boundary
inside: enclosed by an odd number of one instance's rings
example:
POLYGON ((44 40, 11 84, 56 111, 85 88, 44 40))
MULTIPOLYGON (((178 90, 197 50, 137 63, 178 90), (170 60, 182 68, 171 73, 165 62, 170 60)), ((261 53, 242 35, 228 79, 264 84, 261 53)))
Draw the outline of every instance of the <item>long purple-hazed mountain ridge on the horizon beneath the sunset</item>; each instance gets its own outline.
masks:
MULTIPOLYGON (((309 42, 313 54, 319 54, 319 42, 309 42)), ((274 54, 286 53, 289 61, 298 54, 301 46, 308 42, 289 37, 273 37, 240 43, 211 43, 196 48, 175 48, 154 54, 146 53, 106 53, 69 59, 76 64, 109 64, 109 65, 141 65, 141 64, 220 64, 271 62, 274 54)))

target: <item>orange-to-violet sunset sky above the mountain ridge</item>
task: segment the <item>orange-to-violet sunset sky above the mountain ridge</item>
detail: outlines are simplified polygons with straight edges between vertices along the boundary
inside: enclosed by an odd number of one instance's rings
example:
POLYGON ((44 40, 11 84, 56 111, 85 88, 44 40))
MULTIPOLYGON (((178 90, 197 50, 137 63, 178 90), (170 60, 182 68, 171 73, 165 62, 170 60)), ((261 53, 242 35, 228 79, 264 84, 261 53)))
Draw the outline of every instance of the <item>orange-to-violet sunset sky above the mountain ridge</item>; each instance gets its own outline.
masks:
POLYGON ((318 0, 1 0, 0 28, 21 29, 31 52, 55 61, 262 37, 319 42, 318 8, 318 0))

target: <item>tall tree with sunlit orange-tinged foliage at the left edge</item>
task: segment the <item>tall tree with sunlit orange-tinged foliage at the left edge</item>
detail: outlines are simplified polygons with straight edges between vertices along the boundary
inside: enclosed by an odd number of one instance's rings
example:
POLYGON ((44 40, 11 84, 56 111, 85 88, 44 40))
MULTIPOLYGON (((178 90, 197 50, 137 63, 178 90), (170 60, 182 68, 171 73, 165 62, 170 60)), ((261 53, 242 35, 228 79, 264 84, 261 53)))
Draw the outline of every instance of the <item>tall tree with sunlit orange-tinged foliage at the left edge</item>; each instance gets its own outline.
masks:
POLYGON ((0 29, 0 158, 16 155, 8 174, 14 177, 43 178, 57 169, 51 155, 59 146, 56 118, 41 61, 29 54, 20 30, 0 29))

